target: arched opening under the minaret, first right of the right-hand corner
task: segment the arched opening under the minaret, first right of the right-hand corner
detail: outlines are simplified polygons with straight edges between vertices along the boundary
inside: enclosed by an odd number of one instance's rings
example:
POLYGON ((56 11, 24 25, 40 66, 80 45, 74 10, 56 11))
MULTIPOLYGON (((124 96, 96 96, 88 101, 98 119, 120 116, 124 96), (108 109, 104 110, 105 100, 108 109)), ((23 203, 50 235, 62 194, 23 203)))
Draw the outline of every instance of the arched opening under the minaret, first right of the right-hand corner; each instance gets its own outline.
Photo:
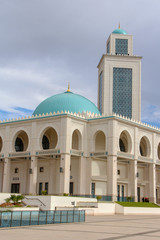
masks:
POLYGON ((121 152, 131 152, 131 137, 127 131, 123 131, 120 135, 119 149, 121 152))

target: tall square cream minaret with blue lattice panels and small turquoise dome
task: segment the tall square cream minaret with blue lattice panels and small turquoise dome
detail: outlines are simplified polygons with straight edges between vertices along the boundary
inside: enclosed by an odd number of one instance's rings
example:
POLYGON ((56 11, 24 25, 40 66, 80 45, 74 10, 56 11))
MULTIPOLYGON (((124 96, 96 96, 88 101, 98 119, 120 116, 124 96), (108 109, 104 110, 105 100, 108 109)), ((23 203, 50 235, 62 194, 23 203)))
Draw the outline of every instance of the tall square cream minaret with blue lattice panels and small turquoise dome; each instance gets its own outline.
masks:
POLYGON ((141 119, 141 59, 133 55, 133 38, 120 28, 106 44, 98 64, 98 107, 108 116, 113 112, 141 119))

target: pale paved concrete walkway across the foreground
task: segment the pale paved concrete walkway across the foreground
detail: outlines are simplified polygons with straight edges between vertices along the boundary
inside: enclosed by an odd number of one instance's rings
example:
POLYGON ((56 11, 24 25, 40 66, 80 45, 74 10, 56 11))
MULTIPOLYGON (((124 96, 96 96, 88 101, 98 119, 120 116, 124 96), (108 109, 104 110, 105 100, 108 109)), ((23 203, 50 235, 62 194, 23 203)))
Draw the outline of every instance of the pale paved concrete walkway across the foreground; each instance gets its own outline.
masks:
POLYGON ((160 216, 88 216, 85 223, 0 229, 0 240, 156 240, 160 216))

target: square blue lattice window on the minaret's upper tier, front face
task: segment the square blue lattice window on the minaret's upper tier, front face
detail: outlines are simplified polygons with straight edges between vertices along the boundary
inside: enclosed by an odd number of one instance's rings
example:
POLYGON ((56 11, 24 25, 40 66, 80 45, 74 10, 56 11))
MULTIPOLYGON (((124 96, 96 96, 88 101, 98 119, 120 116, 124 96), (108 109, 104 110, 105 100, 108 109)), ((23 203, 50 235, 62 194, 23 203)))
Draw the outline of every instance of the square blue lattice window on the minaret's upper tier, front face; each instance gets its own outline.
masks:
POLYGON ((128 55, 128 39, 116 39, 115 54, 128 55))

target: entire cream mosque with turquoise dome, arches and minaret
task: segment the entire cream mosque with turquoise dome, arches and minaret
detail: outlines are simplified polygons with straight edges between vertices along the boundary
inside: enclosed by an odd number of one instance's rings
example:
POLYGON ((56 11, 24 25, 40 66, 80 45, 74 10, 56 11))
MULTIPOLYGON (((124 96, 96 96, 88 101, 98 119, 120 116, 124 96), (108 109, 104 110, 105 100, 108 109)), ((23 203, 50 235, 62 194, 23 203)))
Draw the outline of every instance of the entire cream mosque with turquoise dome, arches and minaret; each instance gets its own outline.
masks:
POLYGON ((70 91, 0 122, 0 191, 160 203, 160 129, 141 122, 141 56, 120 27, 98 63, 98 107, 70 91))

